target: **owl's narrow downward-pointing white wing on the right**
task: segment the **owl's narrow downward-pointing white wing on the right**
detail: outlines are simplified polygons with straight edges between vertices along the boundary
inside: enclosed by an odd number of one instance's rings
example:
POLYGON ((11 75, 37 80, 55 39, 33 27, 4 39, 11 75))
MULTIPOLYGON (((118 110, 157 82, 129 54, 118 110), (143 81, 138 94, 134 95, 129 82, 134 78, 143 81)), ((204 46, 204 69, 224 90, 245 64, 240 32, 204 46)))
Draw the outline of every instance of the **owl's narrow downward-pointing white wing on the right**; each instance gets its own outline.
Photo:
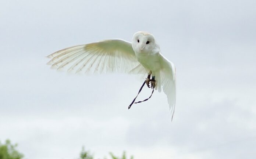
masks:
POLYGON ((163 92, 167 96, 167 101, 172 114, 171 120, 173 120, 176 103, 176 69, 174 64, 166 59, 162 54, 160 54, 160 60, 162 65, 162 69, 160 71, 160 83, 163 92))

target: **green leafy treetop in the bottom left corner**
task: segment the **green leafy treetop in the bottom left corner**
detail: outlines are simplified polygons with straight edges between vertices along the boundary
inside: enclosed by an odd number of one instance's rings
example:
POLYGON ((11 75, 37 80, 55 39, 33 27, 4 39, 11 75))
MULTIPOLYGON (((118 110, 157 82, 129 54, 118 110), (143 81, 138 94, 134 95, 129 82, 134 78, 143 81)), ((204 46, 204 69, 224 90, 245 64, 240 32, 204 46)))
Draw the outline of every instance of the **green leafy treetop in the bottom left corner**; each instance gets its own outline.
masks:
POLYGON ((6 140, 5 144, 0 142, 0 159, 22 159, 22 153, 19 153, 15 148, 17 144, 12 145, 10 140, 6 140))

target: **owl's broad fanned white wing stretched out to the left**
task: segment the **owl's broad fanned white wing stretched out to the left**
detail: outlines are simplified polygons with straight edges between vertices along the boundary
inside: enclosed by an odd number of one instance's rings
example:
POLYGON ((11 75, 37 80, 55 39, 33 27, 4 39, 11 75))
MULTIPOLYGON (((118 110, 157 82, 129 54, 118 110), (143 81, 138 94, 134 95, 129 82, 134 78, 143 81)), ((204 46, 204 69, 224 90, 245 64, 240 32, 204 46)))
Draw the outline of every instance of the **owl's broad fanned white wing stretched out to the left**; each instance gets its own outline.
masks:
POLYGON ((103 40, 57 51, 47 56, 56 69, 82 73, 128 73, 139 65, 132 44, 121 39, 103 40))

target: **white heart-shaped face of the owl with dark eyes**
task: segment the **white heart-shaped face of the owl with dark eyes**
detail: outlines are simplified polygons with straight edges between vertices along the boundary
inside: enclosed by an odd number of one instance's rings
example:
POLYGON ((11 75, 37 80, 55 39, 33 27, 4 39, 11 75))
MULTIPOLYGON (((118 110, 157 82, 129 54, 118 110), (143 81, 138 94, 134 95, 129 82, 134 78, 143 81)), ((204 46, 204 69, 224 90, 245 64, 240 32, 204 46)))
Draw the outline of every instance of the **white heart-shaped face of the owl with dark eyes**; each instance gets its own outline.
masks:
POLYGON ((150 53, 155 47, 155 39, 147 32, 136 32, 132 38, 132 48, 136 53, 150 53))

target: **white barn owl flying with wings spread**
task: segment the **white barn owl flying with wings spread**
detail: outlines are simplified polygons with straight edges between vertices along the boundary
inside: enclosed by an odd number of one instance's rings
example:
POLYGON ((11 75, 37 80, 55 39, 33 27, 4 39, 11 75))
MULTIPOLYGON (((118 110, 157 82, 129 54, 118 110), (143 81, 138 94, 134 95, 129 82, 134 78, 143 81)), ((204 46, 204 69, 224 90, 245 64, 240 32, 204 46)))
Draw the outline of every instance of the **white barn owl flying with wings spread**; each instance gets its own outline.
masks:
POLYGON ((147 75, 146 84, 167 95, 173 119, 176 102, 176 70, 160 51, 154 36, 136 32, 132 42, 103 40, 68 47, 47 56, 52 68, 82 73, 125 72, 147 75), (152 79, 150 79, 152 76, 152 79))

